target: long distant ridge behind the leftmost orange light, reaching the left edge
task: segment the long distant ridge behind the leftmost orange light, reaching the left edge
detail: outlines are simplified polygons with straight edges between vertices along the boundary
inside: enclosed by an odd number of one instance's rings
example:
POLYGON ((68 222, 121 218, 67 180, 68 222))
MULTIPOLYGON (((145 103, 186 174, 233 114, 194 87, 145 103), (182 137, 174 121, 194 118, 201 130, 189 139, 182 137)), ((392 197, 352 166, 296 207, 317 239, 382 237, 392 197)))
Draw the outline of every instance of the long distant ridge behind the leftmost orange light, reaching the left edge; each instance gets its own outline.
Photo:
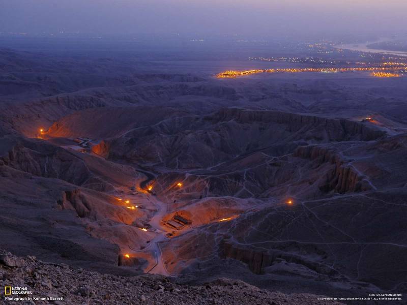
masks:
POLYGON ((107 89, 100 87, 32 99, 30 102, 25 102, 23 107, 10 104, 8 107, 2 107, 0 122, 5 122, 7 126, 25 136, 34 137, 41 126, 49 127, 55 121, 76 111, 108 106, 162 105, 163 102, 183 96, 210 97, 230 101, 239 99, 234 88, 196 85, 194 82, 134 85, 107 89))

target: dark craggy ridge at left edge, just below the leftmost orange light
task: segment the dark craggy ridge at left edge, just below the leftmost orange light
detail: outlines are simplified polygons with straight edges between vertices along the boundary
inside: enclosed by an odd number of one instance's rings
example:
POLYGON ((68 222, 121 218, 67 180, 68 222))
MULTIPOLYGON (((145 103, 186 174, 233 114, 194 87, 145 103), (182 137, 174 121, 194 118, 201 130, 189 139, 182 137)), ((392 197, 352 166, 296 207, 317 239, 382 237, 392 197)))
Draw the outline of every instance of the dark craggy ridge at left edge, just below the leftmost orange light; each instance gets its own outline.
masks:
POLYGON ((101 192, 112 191, 114 185, 129 186, 129 178, 138 176, 130 167, 124 173, 122 166, 43 140, 6 136, 1 141, 0 162, 31 175, 57 178, 101 192))

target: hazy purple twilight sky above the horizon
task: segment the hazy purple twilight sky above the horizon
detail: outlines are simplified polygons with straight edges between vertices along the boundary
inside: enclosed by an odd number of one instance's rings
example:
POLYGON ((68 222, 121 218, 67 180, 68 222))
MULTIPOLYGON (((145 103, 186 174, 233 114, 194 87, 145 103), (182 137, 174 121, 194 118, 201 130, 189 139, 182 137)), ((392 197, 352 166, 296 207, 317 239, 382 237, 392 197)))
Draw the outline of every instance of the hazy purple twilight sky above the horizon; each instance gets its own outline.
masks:
POLYGON ((0 0, 0 32, 407 33, 407 0, 0 0))

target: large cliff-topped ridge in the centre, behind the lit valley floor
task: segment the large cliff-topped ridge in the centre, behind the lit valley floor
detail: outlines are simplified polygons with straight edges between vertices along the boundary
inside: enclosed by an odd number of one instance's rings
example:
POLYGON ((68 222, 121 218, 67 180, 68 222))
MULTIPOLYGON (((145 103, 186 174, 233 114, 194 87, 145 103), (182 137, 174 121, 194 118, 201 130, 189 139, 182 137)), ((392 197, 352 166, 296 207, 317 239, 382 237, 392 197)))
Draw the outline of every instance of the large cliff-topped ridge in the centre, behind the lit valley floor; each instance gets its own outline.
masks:
MULTIPOLYGON (((110 117, 110 113, 108 115, 110 117)), ((147 115, 137 117, 142 120, 147 115)), ((112 136, 113 126, 120 129, 119 125, 109 123, 111 127, 104 135, 112 136)), ((204 117, 170 117, 165 123, 161 120, 156 125, 134 128, 125 133, 125 137, 108 140, 108 145, 101 143, 101 147, 95 149, 112 160, 191 169, 207 168, 256 151, 281 156, 292 153, 299 145, 370 141, 382 137, 385 137, 383 131, 345 119, 224 108, 204 117)))

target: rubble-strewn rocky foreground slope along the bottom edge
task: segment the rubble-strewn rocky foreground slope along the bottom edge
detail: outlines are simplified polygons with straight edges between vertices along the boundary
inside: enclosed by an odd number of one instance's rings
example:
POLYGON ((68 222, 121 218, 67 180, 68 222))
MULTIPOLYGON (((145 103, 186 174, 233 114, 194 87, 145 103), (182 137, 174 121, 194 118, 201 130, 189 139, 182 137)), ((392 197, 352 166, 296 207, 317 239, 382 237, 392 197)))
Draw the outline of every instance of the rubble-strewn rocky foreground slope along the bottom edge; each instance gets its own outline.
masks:
POLYGON ((4 250, 0 250, 0 283, 2 290, 11 286, 32 291, 10 297, 42 298, 10 301, 2 293, 2 304, 327 304, 316 295, 269 292, 239 280, 221 278, 200 286, 178 285, 163 276, 119 277, 42 262, 33 256, 17 257, 4 250), (64 300, 55 300, 59 297, 64 300))

